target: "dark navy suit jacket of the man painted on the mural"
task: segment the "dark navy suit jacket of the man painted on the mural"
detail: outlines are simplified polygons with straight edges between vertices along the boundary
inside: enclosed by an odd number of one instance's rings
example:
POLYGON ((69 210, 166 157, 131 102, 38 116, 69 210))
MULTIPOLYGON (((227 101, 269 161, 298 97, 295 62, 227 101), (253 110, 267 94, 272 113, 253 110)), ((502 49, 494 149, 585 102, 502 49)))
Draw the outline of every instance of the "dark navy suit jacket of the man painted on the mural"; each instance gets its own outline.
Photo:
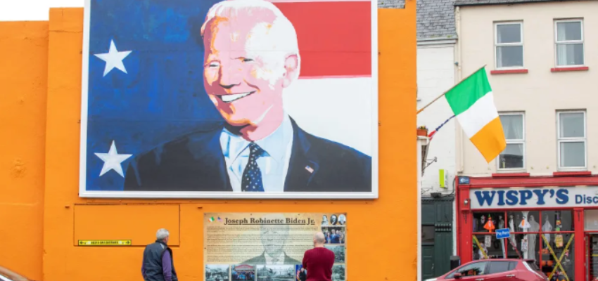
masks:
MULTIPOLYGON (((312 136, 293 119, 291 124, 285 192, 371 192, 371 157, 312 136)), ((222 126, 190 133, 135 157, 127 168, 125 190, 231 192, 221 133, 222 126)))

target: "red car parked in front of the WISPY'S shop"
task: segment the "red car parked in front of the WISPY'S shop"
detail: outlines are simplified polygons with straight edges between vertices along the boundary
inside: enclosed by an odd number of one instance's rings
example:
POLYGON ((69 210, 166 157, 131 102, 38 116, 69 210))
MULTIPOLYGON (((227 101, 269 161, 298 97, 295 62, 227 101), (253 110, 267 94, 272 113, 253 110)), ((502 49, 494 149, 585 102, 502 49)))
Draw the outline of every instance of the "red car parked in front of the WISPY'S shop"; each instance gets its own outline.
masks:
POLYGON ((485 259, 465 263, 449 273, 426 281, 547 281, 534 261, 521 259, 485 259))

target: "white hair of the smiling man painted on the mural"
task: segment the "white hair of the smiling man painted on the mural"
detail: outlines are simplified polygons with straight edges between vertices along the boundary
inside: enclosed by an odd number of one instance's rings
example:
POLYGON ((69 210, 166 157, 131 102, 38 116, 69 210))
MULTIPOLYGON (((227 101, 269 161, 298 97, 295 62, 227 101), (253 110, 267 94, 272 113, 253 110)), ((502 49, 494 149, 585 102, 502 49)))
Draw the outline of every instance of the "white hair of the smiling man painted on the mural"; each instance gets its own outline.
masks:
MULTIPOLYGON (((289 55, 296 55, 297 70, 293 77, 297 79, 300 73, 301 58, 297 32, 293 23, 274 4, 265 0, 226 0, 212 6, 201 27, 201 37, 210 22, 217 19, 232 20, 239 15, 245 15, 255 20, 255 26, 248 34, 246 51, 248 55, 262 58, 267 69, 257 71, 257 77, 267 79, 271 86, 286 72, 285 60, 289 55), (258 17, 257 13, 269 11, 274 14, 274 20, 268 22, 258 17)), ((218 21, 213 21, 217 24, 218 21)), ((234 34, 231 34, 234 37, 234 34)))

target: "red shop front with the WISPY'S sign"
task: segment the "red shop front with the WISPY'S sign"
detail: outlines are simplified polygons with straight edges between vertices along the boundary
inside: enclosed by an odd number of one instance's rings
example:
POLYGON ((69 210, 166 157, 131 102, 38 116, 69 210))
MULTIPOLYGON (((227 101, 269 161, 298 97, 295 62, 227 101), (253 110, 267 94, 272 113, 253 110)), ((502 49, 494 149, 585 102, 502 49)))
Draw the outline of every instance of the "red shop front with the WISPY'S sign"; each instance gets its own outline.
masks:
POLYGON ((457 183, 462 263, 531 259, 549 277, 598 280, 598 176, 498 175, 457 183), (497 239, 497 229, 509 229, 510 237, 497 239))

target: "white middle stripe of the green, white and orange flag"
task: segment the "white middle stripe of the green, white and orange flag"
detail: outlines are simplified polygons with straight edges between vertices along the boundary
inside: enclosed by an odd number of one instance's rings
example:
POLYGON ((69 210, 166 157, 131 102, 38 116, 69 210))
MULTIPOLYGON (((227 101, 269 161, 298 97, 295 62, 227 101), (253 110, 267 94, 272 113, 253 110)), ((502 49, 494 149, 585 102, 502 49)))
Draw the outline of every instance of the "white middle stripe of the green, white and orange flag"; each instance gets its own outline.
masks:
POLYGON ((494 96, 492 92, 485 94, 482 98, 473 103, 471 107, 457 115, 459 124, 468 138, 474 136, 486 124, 498 117, 494 96))

